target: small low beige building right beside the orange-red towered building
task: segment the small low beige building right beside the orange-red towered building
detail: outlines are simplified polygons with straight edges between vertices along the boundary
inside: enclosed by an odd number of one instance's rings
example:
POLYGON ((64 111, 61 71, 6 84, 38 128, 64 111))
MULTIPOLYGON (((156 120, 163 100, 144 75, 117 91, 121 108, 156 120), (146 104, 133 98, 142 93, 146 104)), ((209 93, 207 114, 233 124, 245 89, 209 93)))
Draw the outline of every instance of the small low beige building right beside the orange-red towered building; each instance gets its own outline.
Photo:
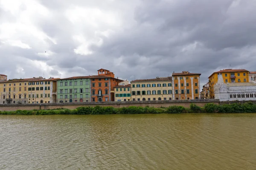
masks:
POLYGON ((119 85, 114 87, 115 101, 131 101, 131 85, 125 85, 125 82, 120 82, 119 85), (121 84, 121 85, 120 85, 121 84))

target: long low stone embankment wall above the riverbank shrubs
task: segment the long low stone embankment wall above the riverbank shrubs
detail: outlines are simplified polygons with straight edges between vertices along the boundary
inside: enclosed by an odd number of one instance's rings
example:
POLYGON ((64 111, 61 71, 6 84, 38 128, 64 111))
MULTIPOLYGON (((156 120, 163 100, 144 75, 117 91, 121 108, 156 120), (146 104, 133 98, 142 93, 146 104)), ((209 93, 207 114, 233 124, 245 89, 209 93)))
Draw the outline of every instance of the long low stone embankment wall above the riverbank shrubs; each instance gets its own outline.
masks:
POLYGON ((173 105, 184 106, 189 108, 191 103, 203 107, 207 103, 220 104, 218 99, 196 99, 196 100, 161 100, 161 101, 127 101, 127 102, 77 102, 77 103, 34 103, 34 104, 8 104, 0 105, 0 111, 17 111, 17 110, 49 110, 58 108, 75 109, 82 106, 112 106, 122 108, 129 106, 152 106, 155 108, 169 107, 173 105))

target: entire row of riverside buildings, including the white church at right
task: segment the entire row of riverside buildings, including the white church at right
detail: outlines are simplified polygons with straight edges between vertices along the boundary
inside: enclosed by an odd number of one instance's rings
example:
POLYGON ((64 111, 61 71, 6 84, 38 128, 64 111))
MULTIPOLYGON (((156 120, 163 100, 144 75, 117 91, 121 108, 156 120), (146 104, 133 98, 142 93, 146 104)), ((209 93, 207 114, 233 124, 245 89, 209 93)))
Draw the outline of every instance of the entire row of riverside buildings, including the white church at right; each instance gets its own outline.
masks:
POLYGON ((99 69, 97 75, 64 79, 33 77, 7 79, 0 74, 0 104, 52 102, 151 101, 185 99, 256 100, 256 72, 224 69, 212 73, 200 92, 199 73, 173 72, 171 77, 115 78, 99 69))

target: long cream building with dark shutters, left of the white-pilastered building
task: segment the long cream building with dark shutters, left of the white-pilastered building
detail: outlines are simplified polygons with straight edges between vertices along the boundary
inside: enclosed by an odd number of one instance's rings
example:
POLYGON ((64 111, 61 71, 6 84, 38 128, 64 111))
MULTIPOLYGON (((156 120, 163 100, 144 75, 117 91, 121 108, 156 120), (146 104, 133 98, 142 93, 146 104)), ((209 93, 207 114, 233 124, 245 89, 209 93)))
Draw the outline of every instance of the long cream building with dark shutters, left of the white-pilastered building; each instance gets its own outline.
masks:
POLYGON ((131 100, 172 100, 172 77, 131 81, 131 100))

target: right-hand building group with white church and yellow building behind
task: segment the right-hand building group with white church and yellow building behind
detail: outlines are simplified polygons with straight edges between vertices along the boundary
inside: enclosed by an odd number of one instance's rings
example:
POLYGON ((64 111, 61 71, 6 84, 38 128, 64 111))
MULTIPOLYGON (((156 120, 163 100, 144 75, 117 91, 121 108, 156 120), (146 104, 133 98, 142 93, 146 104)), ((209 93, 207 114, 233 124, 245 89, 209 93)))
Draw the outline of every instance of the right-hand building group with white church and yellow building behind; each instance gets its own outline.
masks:
POLYGON ((224 69, 214 72, 208 79, 201 91, 202 99, 256 100, 256 71, 224 69))

